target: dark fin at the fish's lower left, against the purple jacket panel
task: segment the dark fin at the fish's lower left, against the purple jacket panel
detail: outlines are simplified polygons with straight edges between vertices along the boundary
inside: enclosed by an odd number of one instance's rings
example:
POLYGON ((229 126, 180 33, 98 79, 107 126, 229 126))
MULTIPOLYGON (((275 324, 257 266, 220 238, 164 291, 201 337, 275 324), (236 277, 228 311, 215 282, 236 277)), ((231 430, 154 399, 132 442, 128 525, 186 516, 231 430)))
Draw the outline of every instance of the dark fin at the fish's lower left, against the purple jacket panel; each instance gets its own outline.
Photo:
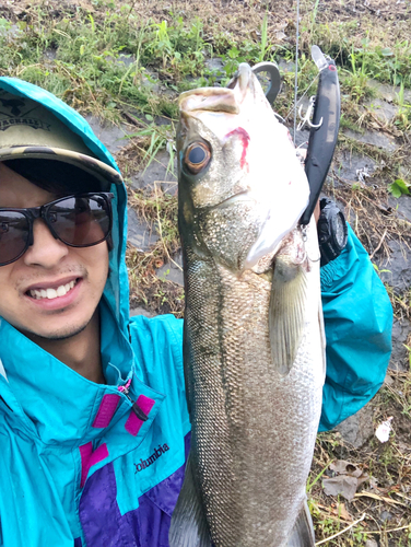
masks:
POLYGON ((212 547, 209 525, 196 485, 191 452, 168 533, 169 547, 212 547))

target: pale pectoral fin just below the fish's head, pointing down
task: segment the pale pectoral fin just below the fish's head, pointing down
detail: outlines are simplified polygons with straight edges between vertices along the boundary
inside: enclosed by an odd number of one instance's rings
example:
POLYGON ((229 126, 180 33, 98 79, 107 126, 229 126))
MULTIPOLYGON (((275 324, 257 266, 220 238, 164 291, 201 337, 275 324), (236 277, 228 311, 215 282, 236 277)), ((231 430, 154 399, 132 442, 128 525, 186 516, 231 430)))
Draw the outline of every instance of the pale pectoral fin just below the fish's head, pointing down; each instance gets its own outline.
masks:
POLYGON ((291 371, 303 336, 307 279, 301 265, 281 257, 272 275, 269 330, 271 358, 281 374, 291 371))

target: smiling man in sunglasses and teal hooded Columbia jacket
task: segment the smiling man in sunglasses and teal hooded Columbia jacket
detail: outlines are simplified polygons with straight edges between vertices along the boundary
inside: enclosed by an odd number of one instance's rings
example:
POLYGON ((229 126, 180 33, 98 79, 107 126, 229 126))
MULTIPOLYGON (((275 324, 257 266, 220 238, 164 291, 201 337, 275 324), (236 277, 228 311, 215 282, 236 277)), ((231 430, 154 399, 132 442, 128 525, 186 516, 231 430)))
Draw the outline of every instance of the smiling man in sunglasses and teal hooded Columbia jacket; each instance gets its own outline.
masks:
MULTIPOLYGON (((129 318, 116 170, 73 109, 0 78, 1 547, 168 546, 190 429, 183 322, 129 318)), ((321 274, 324 429, 374 395, 388 363, 391 310, 366 259, 350 233, 321 274), (353 361, 360 293, 371 327, 353 361)))

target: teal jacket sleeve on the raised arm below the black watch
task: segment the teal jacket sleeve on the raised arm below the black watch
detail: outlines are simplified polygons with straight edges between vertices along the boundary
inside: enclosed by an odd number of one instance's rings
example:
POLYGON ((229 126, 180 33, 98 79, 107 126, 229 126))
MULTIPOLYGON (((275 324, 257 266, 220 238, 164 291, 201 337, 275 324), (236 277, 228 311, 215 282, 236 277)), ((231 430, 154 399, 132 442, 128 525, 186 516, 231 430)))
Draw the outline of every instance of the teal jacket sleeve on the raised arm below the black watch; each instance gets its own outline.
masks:
POLYGON ((327 377, 319 431, 360 410, 381 386, 391 354, 392 307, 359 238, 321 268, 327 377))

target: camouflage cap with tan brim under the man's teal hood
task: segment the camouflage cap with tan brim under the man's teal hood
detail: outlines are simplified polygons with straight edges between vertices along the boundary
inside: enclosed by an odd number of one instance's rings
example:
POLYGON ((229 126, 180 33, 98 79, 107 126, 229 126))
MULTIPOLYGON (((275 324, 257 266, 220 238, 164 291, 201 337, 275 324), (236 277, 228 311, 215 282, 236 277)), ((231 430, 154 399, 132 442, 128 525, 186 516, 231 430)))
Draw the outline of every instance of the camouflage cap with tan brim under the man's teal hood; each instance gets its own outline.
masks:
POLYGON ((103 190, 111 183, 122 183, 121 175, 99 161, 50 110, 36 101, 0 90, 0 162, 20 159, 74 165, 97 178, 103 190))

